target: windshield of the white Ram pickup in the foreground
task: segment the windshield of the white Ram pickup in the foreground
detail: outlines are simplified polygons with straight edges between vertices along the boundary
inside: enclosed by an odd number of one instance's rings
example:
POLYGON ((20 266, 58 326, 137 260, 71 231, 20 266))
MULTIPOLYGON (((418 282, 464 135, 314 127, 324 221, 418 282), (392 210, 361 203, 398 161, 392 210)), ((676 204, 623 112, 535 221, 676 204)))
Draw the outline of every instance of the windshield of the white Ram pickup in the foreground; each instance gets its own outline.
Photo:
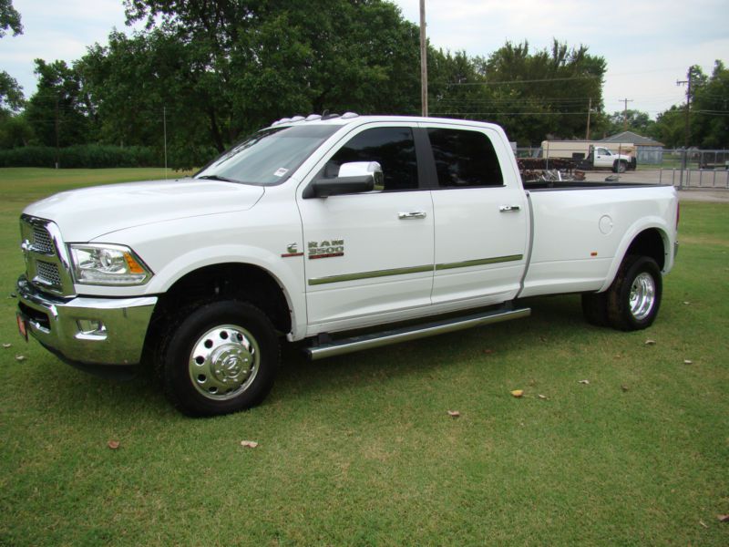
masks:
POLYGON ((263 186, 278 184, 337 129, 339 126, 335 125, 263 129, 212 161, 195 178, 263 186))

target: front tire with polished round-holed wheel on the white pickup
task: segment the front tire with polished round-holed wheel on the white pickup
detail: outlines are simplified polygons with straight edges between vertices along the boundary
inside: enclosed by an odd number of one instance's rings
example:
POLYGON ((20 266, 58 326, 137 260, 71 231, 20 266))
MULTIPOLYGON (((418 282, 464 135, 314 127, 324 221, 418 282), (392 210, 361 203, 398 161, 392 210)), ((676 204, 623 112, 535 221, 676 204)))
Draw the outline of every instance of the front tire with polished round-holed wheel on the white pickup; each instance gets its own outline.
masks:
POLYGON ((180 314, 161 359, 169 401, 188 416, 218 416, 262 402, 276 377, 280 346, 257 307, 210 302, 180 314))

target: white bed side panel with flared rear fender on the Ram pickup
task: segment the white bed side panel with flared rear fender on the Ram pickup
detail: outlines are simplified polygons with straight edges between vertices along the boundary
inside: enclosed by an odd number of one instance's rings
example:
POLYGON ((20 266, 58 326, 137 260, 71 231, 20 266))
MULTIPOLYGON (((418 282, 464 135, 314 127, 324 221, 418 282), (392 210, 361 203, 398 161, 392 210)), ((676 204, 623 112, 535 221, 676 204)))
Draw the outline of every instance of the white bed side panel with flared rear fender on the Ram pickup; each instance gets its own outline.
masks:
POLYGON ((671 186, 530 191, 529 272, 520 296, 604 291, 635 237, 651 228, 673 267, 676 192, 671 186))

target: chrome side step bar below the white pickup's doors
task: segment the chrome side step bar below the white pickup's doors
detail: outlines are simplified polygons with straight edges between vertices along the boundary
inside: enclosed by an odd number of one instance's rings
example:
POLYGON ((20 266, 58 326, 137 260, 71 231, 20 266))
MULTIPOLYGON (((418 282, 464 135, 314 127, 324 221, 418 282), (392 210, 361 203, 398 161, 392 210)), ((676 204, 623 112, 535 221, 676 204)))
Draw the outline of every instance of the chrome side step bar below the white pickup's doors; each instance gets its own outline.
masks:
POLYGON ((318 346, 307 347, 304 352, 313 361, 323 359, 324 357, 342 356, 344 354, 353 353, 363 349, 372 349, 375 347, 389 346, 398 342, 407 342, 426 336, 442 335, 452 333, 459 330, 471 328, 472 326, 491 325, 492 323, 501 323, 511 319, 520 319, 521 317, 529 317, 531 315, 530 308, 521 308, 518 310, 496 310, 484 312, 475 315, 464 315, 444 321, 434 321, 424 325, 407 326, 381 333, 373 333, 370 335, 353 336, 351 338, 343 338, 318 346))

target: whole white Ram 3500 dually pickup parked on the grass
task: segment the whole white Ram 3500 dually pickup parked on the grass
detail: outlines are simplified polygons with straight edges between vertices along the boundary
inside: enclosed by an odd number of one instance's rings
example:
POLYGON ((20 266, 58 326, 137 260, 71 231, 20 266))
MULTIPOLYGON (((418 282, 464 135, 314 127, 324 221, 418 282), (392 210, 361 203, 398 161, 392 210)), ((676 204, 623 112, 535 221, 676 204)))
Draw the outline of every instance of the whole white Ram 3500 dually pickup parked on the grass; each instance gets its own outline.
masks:
POLYGON ((191 178, 28 206, 18 326, 82 368, 153 366, 182 412, 224 414, 262 402, 284 339, 338 356, 565 293, 592 324, 645 328, 678 217, 670 186, 525 188, 493 124, 282 119, 191 178))

